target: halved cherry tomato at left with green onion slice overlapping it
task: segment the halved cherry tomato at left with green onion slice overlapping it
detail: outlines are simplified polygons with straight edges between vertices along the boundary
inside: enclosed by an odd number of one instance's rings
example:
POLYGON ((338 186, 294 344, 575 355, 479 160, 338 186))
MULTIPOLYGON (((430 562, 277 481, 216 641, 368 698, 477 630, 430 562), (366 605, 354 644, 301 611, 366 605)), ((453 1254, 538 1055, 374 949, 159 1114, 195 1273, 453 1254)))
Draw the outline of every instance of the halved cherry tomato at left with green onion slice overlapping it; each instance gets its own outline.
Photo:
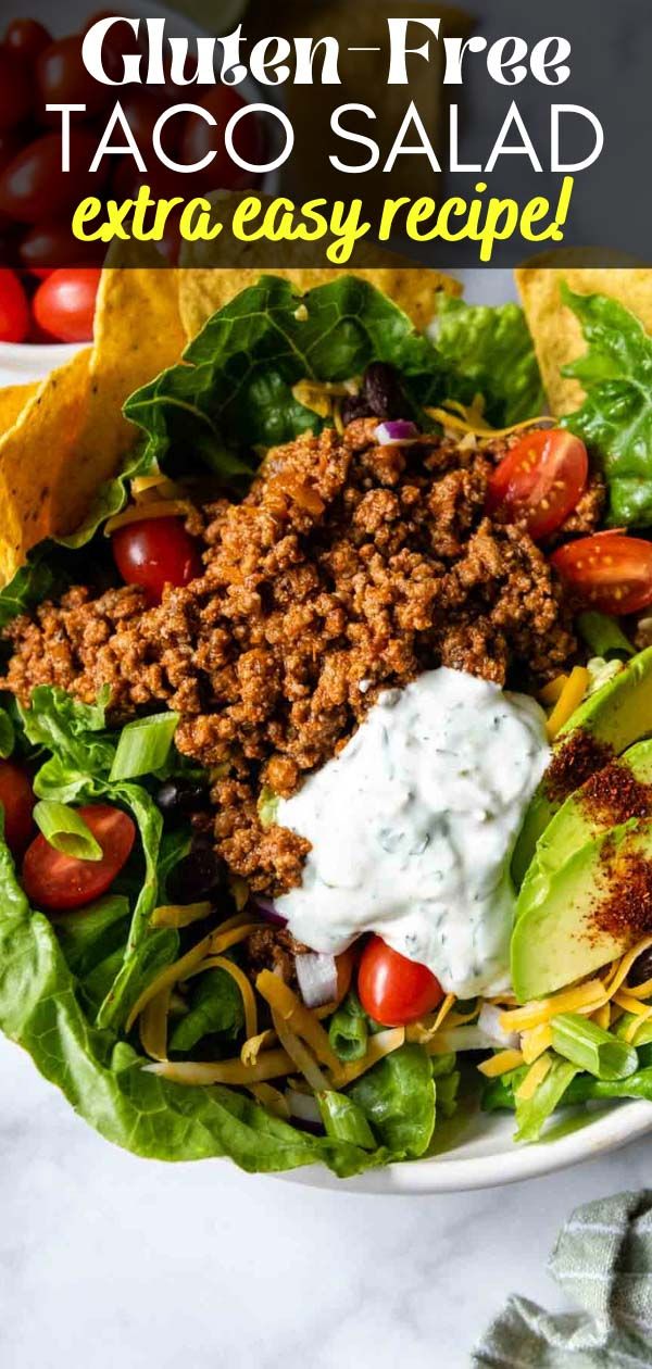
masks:
POLYGON ((101 898, 129 860, 136 841, 136 824, 119 808, 90 804, 79 808, 79 816, 100 843, 101 860, 75 860, 55 850, 40 835, 29 846, 23 860, 23 886, 30 904, 62 912, 84 908, 101 898))

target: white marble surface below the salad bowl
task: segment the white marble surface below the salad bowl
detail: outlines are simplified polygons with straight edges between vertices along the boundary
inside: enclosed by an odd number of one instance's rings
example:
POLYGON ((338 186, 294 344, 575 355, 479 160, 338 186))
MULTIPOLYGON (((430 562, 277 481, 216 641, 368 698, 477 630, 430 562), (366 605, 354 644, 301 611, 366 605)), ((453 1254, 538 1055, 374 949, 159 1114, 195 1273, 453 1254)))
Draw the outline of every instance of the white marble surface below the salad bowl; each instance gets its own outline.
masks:
POLYGON ((0 1039, 3 1369, 464 1369, 510 1291, 559 1306, 557 1227, 649 1142, 551 1179, 379 1198, 108 1146, 0 1039))

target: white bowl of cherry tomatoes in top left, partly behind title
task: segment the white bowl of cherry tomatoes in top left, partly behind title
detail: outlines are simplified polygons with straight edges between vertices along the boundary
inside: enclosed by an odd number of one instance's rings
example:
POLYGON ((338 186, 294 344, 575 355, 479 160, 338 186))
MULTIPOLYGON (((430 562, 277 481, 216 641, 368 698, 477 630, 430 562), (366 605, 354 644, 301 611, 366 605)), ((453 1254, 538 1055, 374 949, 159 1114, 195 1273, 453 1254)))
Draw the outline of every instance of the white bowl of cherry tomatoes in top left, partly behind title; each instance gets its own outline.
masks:
MULTIPOLYGON (((134 0, 121 5, 119 14, 173 18, 162 5, 141 7, 134 0)), ((153 199, 179 193, 179 178, 152 156, 152 130, 162 111, 188 100, 188 93, 95 82, 81 47, 89 26, 101 16, 89 14, 84 0, 68 0, 64 15, 55 22, 49 0, 30 0, 29 14, 16 14, 0 31, 0 386, 45 376, 93 338, 105 246, 79 244, 73 237, 70 219, 79 200, 97 194, 123 201, 141 183, 151 186, 153 199), (148 166, 144 174, 125 155, 105 156, 97 171, 89 171, 116 100, 148 166), (60 171, 60 115, 47 111, 47 105, 62 104, 84 107, 70 120, 67 175, 60 171)), ((173 29, 185 37, 200 31, 177 14, 173 29)), ((105 67, 108 71, 115 64, 115 79, 122 73, 122 57, 138 51, 138 41, 127 25, 116 25, 108 34, 105 67)), ((218 84, 193 94, 218 127, 256 99, 251 79, 238 89, 218 84)), ((238 151, 248 162, 264 160, 260 153, 266 134, 259 119, 245 119, 240 127, 244 142, 238 151)), ((211 148, 214 129, 203 118, 185 114, 170 120, 167 129, 173 131, 166 151, 181 163, 197 163, 211 148)), ((186 196, 256 185, 271 189, 270 177, 242 172, 223 146, 214 144, 212 149, 216 156, 211 166, 200 177, 185 178, 186 196)), ((171 220, 160 244, 167 261, 174 264, 178 246, 177 223, 171 220)))

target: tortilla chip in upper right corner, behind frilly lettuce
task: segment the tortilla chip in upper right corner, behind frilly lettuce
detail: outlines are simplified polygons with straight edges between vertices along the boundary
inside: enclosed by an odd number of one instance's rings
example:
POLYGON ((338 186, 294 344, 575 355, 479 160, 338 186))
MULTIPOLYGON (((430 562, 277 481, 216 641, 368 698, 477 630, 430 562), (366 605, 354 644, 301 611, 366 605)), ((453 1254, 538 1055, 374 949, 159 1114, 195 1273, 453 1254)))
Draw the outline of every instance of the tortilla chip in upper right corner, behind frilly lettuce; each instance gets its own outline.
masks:
POLYGON ((534 340, 551 412, 562 418, 584 401, 579 381, 562 375, 562 367, 586 352, 582 329, 571 309, 562 304, 562 281, 577 294, 607 294, 640 318, 652 333, 652 271, 638 268, 523 267, 515 272, 527 324, 534 340))

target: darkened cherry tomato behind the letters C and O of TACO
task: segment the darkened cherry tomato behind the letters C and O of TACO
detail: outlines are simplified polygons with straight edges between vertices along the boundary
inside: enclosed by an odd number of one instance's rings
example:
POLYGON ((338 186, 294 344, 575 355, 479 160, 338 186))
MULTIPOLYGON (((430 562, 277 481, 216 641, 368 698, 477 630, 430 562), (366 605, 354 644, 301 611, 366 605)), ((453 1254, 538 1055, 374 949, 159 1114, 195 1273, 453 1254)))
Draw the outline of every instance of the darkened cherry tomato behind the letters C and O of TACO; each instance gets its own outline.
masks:
MULTIPOLYGON (((212 114, 216 126, 207 123, 197 114, 189 114, 181 141, 179 162, 192 166, 215 151, 216 155, 210 166, 197 172, 201 186, 207 190, 244 190, 255 185, 256 174, 231 162, 225 148, 225 127, 234 114, 245 108, 247 101, 230 86, 216 85, 197 103, 212 114)), ((237 125, 233 144, 245 162, 252 164, 262 162, 263 130, 258 115, 248 115, 237 125)))

